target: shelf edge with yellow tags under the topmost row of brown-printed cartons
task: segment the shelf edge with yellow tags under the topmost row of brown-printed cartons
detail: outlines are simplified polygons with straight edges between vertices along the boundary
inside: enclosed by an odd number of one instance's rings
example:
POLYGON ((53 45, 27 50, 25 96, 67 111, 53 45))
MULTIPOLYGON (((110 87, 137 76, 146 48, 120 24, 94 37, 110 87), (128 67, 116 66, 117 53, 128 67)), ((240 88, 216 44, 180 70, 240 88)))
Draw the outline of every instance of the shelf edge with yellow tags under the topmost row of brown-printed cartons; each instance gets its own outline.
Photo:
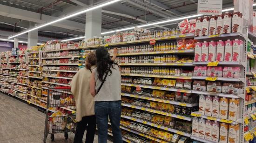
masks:
POLYGON ((195 39, 216 39, 216 38, 224 38, 224 37, 234 37, 234 36, 238 36, 241 37, 243 39, 247 39, 246 35, 243 33, 224 33, 224 34, 216 34, 216 35, 207 35, 207 36, 199 36, 199 37, 195 37, 195 39))

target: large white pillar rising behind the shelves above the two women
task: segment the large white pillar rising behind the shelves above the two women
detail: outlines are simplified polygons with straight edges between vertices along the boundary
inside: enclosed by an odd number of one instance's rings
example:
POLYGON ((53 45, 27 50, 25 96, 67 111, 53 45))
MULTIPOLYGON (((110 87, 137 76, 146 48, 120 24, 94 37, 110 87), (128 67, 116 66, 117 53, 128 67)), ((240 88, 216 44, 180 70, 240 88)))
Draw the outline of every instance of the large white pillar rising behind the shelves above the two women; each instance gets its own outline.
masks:
POLYGON ((101 8, 86 13, 85 36, 86 38, 101 37, 101 8))

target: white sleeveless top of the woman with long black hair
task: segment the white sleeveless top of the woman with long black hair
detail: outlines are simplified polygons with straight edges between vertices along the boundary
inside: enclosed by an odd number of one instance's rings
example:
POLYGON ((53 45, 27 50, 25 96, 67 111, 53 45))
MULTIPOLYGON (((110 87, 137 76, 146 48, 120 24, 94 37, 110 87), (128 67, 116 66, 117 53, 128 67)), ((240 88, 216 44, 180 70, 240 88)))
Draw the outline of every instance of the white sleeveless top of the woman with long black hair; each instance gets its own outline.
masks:
MULTIPOLYGON (((119 71, 118 65, 113 65, 114 68, 110 68, 112 74, 110 75, 110 71, 108 72, 108 76, 101 87, 101 90, 98 94, 95 95, 94 101, 117 101, 121 100, 121 73, 119 71)), ((94 78, 96 81, 95 90, 98 91, 101 86, 101 81, 98 78, 99 74, 97 72, 97 68, 94 69, 94 78)), ((103 75, 103 78, 106 74, 103 75)))

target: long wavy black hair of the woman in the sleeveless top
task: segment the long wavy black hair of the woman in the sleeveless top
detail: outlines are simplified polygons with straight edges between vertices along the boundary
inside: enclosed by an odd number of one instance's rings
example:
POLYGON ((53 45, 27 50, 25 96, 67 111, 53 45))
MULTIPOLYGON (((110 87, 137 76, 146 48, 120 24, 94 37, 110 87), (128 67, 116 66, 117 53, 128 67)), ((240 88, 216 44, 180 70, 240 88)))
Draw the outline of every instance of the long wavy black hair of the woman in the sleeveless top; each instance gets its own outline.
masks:
MULTIPOLYGON (((99 79, 102 82, 104 74, 108 71, 108 67, 111 65, 117 65, 111 58, 108 53, 108 50, 105 47, 97 48, 96 50, 96 58, 97 58, 97 71, 99 74, 99 79)), ((110 75, 112 74, 111 69, 109 69, 110 75)))

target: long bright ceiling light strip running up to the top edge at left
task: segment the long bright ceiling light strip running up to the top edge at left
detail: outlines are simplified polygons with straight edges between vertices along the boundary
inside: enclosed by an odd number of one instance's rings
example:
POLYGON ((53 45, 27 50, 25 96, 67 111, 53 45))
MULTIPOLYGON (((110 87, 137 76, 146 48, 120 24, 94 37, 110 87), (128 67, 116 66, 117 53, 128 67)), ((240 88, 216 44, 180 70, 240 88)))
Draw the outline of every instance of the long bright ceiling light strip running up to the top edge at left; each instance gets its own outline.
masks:
POLYGON ((65 16, 65 17, 63 17, 63 18, 60 18, 60 19, 57 19, 57 20, 54 20, 54 21, 51 21, 51 22, 42 24, 42 25, 40 25, 40 26, 34 27, 34 28, 32 28, 32 29, 27 29, 27 30, 25 30, 25 31, 23 31, 23 32, 20 32, 20 33, 17 33, 17 34, 15 34, 15 35, 13 35, 13 36, 8 37, 8 39, 11 39, 11 38, 20 36, 20 35, 25 34, 25 33, 27 33, 27 32, 31 32, 31 31, 33 31, 33 30, 36 30, 36 29, 39 29, 39 28, 41 28, 41 27, 54 24, 54 23, 59 22, 59 21, 62 21, 62 20, 69 19, 69 18, 71 18, 71 17, 80 15, 80 14, 82 14, 82 13, 86 13, 86 12, 92 11, 92 10, 97 9, 97 8, 101 8, 101 7, 108 6, 108 5, 113 4, 113 3, 115 3, 115 2, 118 2, 118 1, 120 1, 120 0, 108 0, 107 2, 105 2, 105 3, 103 3, 103 4, 98 4, 98 5, 95 5, 95 6, 93 6, 93 7, 86 8, 85 10, 82 10, 82 11, 80 11, 80 12, 76 12, 76 13, 67 15, 67 16, 65 16))

